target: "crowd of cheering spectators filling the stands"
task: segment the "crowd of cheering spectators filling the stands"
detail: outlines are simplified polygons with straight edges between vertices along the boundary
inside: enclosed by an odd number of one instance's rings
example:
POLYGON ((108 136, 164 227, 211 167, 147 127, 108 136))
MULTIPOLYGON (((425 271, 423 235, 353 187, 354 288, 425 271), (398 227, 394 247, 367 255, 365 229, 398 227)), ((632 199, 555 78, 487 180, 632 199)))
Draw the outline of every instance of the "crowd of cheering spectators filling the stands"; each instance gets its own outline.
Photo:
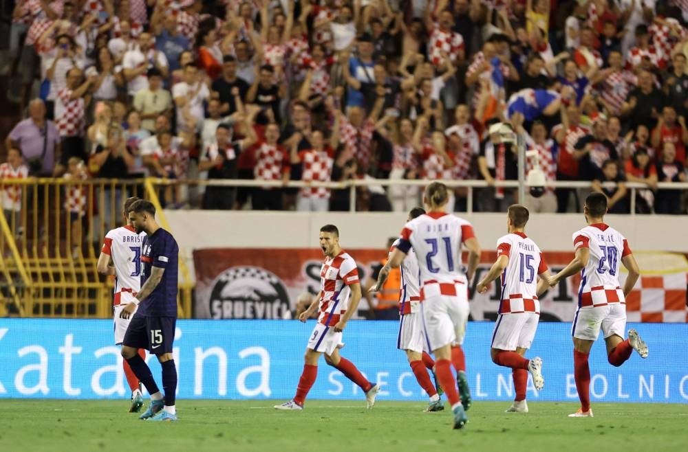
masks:
MULTIPOLYGON (((688 0, 17 0, 2 69, 28 117, 0 175, 484 179, 473 207, 494 212, 515 197, 495 187, 517 178, 517 146, 488 133, 505 122, 537 151, 527 170, 589 181, 610 212, 629 212, 625 183, 638 182, 638 213, 685 213, 684 193, 657 183, 686 176, 687 20, 688 0)), ((453 195, 465 210, 466 190, 453 195)), ((575 212, 581 195, 526 201, 575 212)), ((6 188, 6 211, 18 196, 6 188)), ((171 208, 350 203, 315 187, 161 196, 171 208)), ((419 202, 419 186, 373 184, 356 209, 419 202)))

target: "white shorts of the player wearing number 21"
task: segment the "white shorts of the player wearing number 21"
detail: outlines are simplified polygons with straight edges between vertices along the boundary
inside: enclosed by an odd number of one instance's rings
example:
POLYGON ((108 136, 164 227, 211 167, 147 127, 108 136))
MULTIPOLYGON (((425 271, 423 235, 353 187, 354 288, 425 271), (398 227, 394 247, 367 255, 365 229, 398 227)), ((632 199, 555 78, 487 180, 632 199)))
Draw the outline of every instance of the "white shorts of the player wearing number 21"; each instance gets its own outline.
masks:
POLYGON ((435 295, 420 304, 428 350, 464 343, 470 308, 466 291, 459 293, 457 296, 435 295))

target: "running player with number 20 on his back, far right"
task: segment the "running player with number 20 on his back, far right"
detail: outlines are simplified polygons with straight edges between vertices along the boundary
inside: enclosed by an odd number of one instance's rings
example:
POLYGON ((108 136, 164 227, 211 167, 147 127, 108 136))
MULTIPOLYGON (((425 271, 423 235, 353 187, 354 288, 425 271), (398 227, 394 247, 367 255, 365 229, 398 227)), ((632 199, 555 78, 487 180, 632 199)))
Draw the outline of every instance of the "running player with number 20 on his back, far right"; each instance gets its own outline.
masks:
POLYGON ((625 297, 640 276, 628 241, 619 231, 604 223, 607 213, 607 197, 604 194, 589 194, 583 213, 588 226, 573 234, 575 258, 549 280, 550 286, 556 286, 560 280, 581 272, 578 309, 572 328, 574 377, 581 407, 569 415, 572 418, 592 418, 588 356, 600 328, 607 343, 607 359, 611 365, 619 367, 625 363, 633 350, 642 358, 647 358, 647 345, 636 330, 628 330, 628 338, 623 339, 626 327, 625 297), (623 291, 619 284, 620 261, 628 271, 623 291))

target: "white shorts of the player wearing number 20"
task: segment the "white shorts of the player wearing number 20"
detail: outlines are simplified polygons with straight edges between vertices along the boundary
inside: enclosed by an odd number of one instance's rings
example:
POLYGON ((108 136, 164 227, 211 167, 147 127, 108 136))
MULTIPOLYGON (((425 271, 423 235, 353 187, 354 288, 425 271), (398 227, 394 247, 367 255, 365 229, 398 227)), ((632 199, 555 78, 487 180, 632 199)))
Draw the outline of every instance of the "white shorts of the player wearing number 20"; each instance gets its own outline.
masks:
POLYGON ((612 335, 625 337, 626 305, 611 303, 592 308, 578 308, 571 328, 573 337, 596 341, 600 328, 605 339, 612 335))

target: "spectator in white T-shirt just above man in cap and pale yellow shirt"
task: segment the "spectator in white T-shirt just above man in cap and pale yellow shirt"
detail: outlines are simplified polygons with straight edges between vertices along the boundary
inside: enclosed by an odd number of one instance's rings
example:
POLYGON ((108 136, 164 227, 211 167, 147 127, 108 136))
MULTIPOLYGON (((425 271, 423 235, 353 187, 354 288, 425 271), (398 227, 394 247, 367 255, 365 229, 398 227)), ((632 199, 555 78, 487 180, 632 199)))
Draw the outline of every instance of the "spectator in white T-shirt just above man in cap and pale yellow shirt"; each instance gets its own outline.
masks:
POLYGON ((163 78, 169 74, 169 64, 165 54, 153 49, 153 36, 150 33, 142 33, 138 36, 138 49, 129 50, 122 58, 122 69, 124 69, 128 93, 131 97, 148 87, 146 74, 153 68, 158 69, 163 78))

